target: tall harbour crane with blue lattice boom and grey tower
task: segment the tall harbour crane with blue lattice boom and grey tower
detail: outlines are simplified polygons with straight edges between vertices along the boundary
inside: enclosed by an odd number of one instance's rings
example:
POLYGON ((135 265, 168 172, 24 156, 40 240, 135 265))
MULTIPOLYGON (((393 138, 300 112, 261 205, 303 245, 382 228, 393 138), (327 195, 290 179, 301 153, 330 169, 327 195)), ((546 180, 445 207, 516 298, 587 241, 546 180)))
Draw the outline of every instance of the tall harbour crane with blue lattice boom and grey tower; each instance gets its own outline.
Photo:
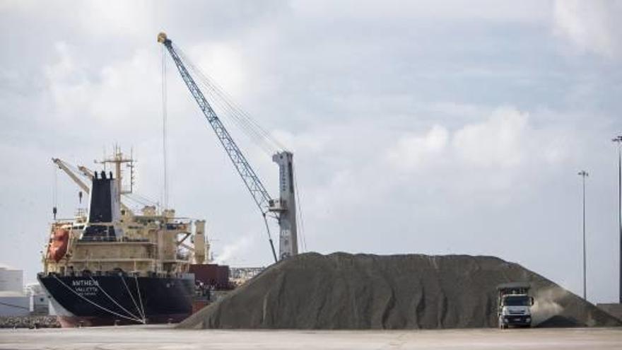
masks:
POLYGON ((278 259, 285 259, 286 257, 297 255, 298 235, 296 227, 295 185, 293 182, 293 153, 289 151, 278 151, 272 156, 272 160, 278 164, 279 168, 280 194, 279 199, 272 199, 261 180, 259 180, 259 177, 257 177, 257 174, 248 163, 246 157, 242 151, 240 151, 240 148, 237 147, 237 144, 235 144, 235 141, 233 141, 233 138, 227 129, 225 129, 221 119, 218 118, 213 107, 208 100, 206 100, 199 86, 196 85, 194 78, 189 74, 186 64, 184 64, 184 59, 177 53, 177 49, 173 46, 172 41, 165 33, 159 33, 158 42, 163 44, 168 50, 170 57, 173 62, 175 62, 175 66, 177 66, 177 70, 182 76, 192 97, 196 100, 201 112, 203 112, 211 128, 216 133, 218 141, 221 142, 225 152, 233 162, 235 170, 237 170, 237 173, 242 177, 242 181, 249 190, 253 201, 257 204, 259 211, 262 212, 274 260, 277 261, 278 259), (269 213, 274 214, 279 226, 278 259, 270 235, 269 225, 266 221, 266 214, 269 213))

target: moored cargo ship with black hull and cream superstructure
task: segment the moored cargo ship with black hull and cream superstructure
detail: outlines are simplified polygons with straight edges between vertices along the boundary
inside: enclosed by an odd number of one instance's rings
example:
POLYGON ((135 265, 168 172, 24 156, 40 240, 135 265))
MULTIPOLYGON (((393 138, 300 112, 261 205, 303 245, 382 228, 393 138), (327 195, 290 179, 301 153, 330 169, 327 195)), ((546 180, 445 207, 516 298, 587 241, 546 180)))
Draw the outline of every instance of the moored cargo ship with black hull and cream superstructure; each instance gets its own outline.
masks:
POLYGON ((134 187, 134 160, 119 148, 98 162, 104 170, 79 168, 90 185, 53 161, 89 197, 74 218, 54 217, 37 274, 63 327, 180 322, 216 291, 233 288, 228 267, 206 264, 204 220, 124 204, 134 187))

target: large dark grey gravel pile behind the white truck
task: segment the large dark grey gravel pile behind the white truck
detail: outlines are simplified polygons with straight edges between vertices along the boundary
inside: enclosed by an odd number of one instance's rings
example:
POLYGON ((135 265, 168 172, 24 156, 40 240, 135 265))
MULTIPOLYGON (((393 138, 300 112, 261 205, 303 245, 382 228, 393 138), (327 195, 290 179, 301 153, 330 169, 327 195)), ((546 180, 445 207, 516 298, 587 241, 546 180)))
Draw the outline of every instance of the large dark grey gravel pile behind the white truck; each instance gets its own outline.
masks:
POLYGON ((532 285, 534 325, 621 325, 543 276, 497 257, 306 253, 265 269, 177 327, 496 327, 496 286, 517 281, 532 285))

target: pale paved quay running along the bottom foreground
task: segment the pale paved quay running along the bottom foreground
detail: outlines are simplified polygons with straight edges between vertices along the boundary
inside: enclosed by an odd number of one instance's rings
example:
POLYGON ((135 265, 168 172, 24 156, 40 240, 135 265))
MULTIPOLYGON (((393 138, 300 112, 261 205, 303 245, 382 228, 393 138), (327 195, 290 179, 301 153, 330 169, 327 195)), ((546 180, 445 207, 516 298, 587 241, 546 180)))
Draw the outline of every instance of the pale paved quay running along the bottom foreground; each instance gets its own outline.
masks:
POLYGON ((622 349, 622 328, 409 331, 0 329, 0 349, 622 349))

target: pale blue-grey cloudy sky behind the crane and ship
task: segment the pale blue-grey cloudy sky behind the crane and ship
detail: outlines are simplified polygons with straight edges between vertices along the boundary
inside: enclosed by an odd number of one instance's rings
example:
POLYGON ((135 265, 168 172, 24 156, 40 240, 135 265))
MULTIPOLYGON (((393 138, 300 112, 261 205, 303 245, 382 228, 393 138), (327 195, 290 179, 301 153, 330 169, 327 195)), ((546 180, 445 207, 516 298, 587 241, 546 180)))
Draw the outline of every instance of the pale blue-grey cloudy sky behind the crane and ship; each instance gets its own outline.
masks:
MULTIPOLYGON (((163 203, 165 31, 294 153, 304 251, 494 255, 618 296, 619 1, 1 1, 0 262, 41 269, 52 206, 133 151, 163 203), (54 196, 56 193, 56 196, 54 196), (56 201, 54 201, 56 197, 56 201)), ((263 221, 165 56, 168 204, 218 262, 266 266, 263 221)), ((223 117, 274 196, 278 168, 223 117)), ((273 232, 276 232, 276 226, 273 232)))

